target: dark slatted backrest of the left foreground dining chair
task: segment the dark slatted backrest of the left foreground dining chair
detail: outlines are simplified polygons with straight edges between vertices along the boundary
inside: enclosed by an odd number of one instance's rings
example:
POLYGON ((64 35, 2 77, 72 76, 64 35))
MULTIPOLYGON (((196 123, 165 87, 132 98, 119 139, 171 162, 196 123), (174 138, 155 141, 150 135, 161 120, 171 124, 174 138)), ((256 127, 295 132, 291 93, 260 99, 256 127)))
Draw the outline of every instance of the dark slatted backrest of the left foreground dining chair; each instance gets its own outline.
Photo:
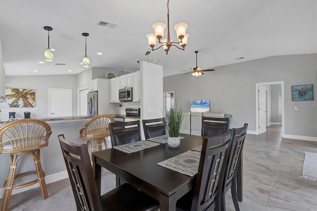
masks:
POLYGON ((74 144, 58 136, 78 211, 101 211, 102 205, 86 144, 74 144))

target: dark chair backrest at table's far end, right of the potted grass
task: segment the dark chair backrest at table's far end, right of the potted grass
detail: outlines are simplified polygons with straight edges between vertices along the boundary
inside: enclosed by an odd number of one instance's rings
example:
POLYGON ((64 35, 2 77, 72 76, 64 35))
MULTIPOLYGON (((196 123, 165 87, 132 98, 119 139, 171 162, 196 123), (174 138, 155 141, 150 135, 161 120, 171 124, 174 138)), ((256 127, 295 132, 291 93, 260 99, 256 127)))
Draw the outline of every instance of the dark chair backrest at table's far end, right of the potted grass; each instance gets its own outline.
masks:
POLYGON ((202 136, 218 136, 229 129, 228 117, 202 117, 202 136))

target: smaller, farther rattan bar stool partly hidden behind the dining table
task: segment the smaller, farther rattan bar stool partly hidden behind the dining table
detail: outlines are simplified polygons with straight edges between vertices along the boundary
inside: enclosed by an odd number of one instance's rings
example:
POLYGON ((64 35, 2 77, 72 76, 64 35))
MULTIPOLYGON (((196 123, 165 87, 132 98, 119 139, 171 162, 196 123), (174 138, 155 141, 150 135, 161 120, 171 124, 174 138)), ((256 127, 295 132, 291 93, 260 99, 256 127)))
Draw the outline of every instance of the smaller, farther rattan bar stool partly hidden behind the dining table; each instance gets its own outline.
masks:
POLYGON ((101 114, 91 118, 84 127, 79 130, 80 138, 87 140, 87 147, 90 145, 90 161, 92 162, 92 153, 103 149, 103 143, 107 149, 106 137, 110 136, 108 124, 114 122, 111 115, 101 114))

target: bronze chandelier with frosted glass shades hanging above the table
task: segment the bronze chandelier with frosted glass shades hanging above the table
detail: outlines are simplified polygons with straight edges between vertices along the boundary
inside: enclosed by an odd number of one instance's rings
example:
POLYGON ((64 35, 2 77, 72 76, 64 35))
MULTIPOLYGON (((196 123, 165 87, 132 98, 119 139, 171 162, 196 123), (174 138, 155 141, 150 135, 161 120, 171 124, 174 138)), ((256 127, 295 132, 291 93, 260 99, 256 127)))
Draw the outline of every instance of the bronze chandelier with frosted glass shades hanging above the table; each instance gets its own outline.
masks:
POLYGON ((175 46, 176 48, 184 51, 185 46, 187 45, 187 38, 189 37, 189 34, 186 33, 187 27, 188 26, 186 23, 177 23, 174 26, 174 30, 176 31, 176 35, 179 42, 172 42, 172 40, 169 37, 169 0, 167 0, 167 39, 161 40, 164 35, 164 29, 166 28, 166 25, 164 23, 153 24, 152 28, 154 28, 155 33, 148 34, 146 36, 148 38, 148 42, 150 47, 152 48, 152 51, 163 47, 164 51, 167 54, 171 46, 175 46), (154 47, 157 44, 157 39, 159 40, 159 43, 162 45, 154 49, 154 47), (182 48, 179 48, 175 44, 179 44, 182 48))

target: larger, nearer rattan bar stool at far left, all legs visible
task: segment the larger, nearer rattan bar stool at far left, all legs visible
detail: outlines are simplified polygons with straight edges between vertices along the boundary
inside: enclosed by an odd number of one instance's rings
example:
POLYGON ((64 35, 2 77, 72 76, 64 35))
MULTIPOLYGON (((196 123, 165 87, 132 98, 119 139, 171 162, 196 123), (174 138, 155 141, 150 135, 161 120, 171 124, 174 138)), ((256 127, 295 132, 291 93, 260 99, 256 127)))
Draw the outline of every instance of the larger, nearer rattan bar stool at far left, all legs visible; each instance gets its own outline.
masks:
POLYGON ((4 194, 1 211, 7 211, 12 189, 23 188, 40 183, 42 196, 49 197, 45 183, 45 172, 41 166, 40 149, 49 145, 51 126, 38 119, 21 119, 9 122, 0 128, 0 153, 10 154, 10 168, 4 182, 4 194), (16 174, 18 161, 26 156, 34 159, 36 170, 16 174), (38 178, 14 184, 16 178, 37 174, 38 178))

